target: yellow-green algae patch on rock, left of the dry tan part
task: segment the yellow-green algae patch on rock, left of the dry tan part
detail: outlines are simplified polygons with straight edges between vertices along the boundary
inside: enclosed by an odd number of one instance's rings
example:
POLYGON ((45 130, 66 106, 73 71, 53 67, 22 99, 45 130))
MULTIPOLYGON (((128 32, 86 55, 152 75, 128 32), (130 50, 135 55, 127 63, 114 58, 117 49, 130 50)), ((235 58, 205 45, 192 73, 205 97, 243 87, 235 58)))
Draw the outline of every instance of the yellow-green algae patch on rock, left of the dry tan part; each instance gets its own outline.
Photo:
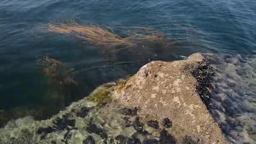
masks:
POLYGON ((101 87, 97 88, 88 97, 88 101, 96 102, 98 105, 104 105, 112 101, 111 96, 109 96, 110 91, 107 88, 101 87))

